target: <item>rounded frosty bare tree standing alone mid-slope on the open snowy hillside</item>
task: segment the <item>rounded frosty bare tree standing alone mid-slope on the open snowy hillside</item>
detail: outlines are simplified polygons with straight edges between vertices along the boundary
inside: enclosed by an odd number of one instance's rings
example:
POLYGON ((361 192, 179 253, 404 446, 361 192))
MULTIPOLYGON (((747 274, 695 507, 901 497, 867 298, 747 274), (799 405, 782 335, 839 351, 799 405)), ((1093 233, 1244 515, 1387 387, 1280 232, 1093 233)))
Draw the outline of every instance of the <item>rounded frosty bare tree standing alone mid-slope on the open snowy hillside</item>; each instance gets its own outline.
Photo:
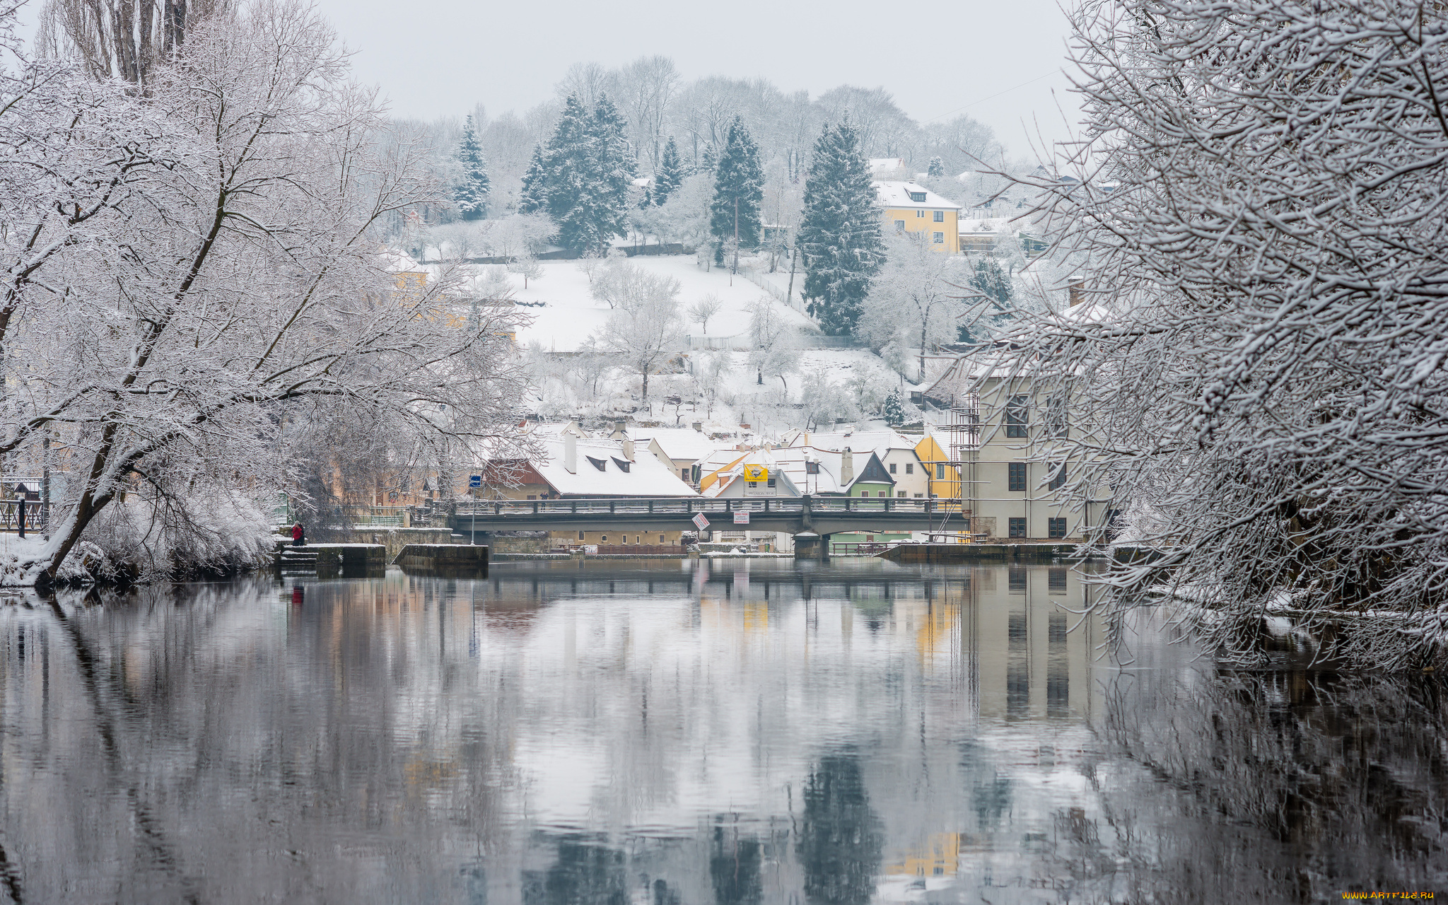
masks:
POLYGON ((627 261, 610 261, 594 281, 594 295, 604 298, 613 313, 597 334, 602 355, 637 374, 643 398, 649 398, 649 378, 669 363, 683 348, 683 319, 679 316, 679 281, 650 274, 627 261))

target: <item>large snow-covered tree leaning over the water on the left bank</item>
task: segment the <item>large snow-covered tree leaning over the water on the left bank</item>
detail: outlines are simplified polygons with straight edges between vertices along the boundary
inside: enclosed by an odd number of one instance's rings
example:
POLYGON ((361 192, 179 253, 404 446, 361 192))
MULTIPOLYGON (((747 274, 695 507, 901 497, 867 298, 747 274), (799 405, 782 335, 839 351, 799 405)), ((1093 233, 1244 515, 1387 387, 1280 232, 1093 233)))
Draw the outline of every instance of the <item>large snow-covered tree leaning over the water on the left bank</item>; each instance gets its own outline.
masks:
POLYGON ((0 455, 61 443, 71 478, 6 581, 54 576, 123 494, 295 487, 290 450, 339 417, 394 446, 511 437, 515 321, 468 326, 450 278, 379 252, 387 214, 446 191, 314 13, 204 25, 143 98, 25 61, 0 91, 0 455))

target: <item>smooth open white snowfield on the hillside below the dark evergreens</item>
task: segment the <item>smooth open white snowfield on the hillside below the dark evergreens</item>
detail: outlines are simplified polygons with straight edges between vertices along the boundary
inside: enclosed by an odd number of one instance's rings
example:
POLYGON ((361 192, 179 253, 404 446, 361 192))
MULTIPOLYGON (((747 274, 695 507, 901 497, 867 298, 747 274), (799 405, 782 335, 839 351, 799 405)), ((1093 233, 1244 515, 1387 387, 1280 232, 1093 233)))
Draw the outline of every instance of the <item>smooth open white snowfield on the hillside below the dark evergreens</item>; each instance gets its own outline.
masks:
MULTIPOLYGON (((744 277, 736 275, 734 285, 730 285, 728 268, 712 268, 708 272, 701 269, 692 255, 670 255, 659 258, 633 258, 631 264, 653 274, 666 274, 679 281, 679 307, 688 310, 704 295, 714 292, 724 301, 724 308, 710 319, 708 336, 736 336, 749 329, 749 306, 767 292, 744 277)), ((533 323, 518 333, 518 342, 524 346, 539 343, 550 352, 572 352, 591 333, 602 329, 608 320, 608 304, 597 301, 589 294, 588 275, 579 268, 578 261, 543 261, 543 277, 529 279, 529 288, 523 288, 523 278, 508 274, 513 281, 514 298, 524 303, 524 314, 533 316, 533 323), (543 307, 527 307, 543 303, 543 307)), ((494 266, 502 271, 501 265, 475 265, 475 272, 494 266)), ((775 274, 773 277, 778 277, 775 274)), ((788 279, 785 274, 785 279, 788 279)), ((795 290, 802 285, 802 275, 795 278, 795 290)), ((783 288, 780 285, 780 288, 783 288)), ((775 301, 775 307, 783 313, 788 323, 798 324, 807 330, 818 332, 812 321, 775 301)), ((698 321, 688 326, 691 336, 704 336, 704 327, 698 321)))

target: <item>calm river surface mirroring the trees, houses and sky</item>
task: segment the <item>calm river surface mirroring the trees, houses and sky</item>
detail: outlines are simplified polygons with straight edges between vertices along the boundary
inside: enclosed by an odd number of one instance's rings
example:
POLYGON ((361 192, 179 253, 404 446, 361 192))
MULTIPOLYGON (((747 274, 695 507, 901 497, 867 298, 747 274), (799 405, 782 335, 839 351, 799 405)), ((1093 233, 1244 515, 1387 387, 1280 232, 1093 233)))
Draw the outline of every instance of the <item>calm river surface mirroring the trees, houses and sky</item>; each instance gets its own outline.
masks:
POLYGON ((4 607, 0 901, 1448 892, 1441 681, 1221 672, 1085 595, 568 562, 4 607))

